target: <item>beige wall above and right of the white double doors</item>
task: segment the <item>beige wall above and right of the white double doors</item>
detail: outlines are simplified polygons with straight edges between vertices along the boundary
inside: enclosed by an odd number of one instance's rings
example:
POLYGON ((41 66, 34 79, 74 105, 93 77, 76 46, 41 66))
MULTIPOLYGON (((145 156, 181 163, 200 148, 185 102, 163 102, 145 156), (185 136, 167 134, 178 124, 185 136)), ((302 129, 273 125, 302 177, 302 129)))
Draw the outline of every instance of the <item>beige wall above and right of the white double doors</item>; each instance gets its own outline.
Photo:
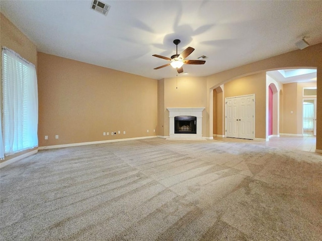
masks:
POLYGON ((266 139, 266 73, 234 79, 224 84, 224 97, 255 94, 255 138, 266 139))

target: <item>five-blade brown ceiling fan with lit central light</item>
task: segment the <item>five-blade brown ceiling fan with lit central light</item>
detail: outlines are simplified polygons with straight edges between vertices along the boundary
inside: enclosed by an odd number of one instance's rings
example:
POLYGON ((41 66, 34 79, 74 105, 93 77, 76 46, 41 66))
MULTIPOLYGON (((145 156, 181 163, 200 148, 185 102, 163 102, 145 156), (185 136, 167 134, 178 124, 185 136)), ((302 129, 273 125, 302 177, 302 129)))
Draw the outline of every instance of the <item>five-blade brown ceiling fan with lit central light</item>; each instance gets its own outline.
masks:
POLYGON ((169 65, 171 65, 173 68, 177 69, 178 73, 182 73, 183 72, 183 68, 182 66, 184 64, 204 64, 206 63, 205 60, 186 60, 185 58, 187 58, 195 49, 188 47, 186 48, 180 55, 178 54, 178 44, 180 44, 180 40, 179 39, 175 39, 173 41, 173 43, 177 46, 177 54, 171 56, 171 58, 165 57, 165 56, 161 56, 161 55, 157 55, 157 54, 153 54, 152 56, 158 57, 158 58, 162 58, 162 59, 166 59, 171 61, 171 63, 156 67, 154 69, 160 69, 160 68, 164 68, 167 67, 169 65))

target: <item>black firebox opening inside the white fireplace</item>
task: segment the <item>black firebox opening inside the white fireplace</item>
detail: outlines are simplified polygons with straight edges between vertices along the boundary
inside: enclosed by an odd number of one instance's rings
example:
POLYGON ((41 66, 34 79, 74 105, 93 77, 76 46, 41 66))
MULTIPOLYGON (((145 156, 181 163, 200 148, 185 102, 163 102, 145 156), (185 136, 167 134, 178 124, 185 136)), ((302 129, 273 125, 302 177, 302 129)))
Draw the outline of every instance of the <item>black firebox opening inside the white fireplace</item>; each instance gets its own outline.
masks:
POLYGON ((175 134, 197 134, 196 116, 176 116, 175 134))

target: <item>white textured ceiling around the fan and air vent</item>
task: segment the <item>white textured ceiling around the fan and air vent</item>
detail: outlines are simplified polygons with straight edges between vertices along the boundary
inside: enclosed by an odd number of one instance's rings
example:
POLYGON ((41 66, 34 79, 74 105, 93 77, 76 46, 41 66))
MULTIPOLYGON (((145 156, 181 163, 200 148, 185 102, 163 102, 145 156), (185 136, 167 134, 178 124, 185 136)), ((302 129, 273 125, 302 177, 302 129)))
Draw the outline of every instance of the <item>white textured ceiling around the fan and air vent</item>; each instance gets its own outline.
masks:
MULTIPOLYGON (((187 59, 205 55, 204 65, 184 65, 187 76, 207 76, 296 50, 303 36, 322 42, 322 1, 1 1, 1 12, 40 52, 153 79, 175 77, 167 64, 188 46, 187 59)), ((182 75, 182 74, 180 74, 182 75)), ((179 75, 179 76, 180 76, 179 75)))

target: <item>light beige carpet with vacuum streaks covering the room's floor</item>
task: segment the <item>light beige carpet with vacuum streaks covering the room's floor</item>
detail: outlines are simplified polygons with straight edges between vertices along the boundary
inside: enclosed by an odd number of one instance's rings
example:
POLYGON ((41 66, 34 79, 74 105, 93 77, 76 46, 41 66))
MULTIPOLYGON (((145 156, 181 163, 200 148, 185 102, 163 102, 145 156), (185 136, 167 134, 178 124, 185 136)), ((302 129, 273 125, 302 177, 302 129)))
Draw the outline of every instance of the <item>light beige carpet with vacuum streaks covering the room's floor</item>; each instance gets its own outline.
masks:
POLYGON ((1 240, 321 240, 322 156, 146 139, 1 169, 1 240))

